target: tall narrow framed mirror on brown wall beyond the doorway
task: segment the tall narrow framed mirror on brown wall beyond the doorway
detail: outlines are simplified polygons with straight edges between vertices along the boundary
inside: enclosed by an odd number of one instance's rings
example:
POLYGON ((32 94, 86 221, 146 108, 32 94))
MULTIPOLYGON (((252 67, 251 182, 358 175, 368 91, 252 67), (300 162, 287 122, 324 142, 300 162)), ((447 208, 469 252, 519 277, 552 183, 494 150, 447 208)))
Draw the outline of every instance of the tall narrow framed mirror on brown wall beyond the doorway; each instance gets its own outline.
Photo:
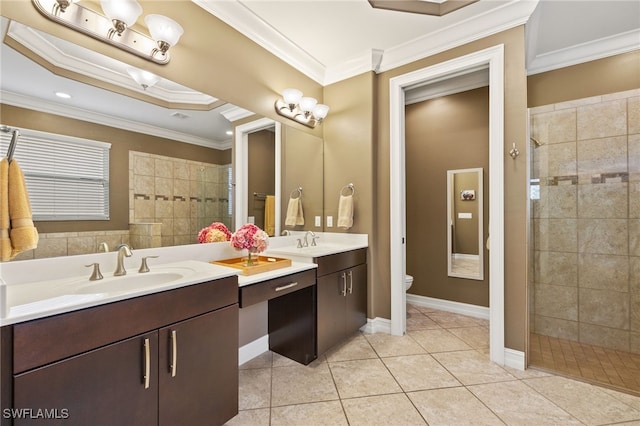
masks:
POLYGON ((447 170, 447 273, 484 279, 482 168, 447 170))

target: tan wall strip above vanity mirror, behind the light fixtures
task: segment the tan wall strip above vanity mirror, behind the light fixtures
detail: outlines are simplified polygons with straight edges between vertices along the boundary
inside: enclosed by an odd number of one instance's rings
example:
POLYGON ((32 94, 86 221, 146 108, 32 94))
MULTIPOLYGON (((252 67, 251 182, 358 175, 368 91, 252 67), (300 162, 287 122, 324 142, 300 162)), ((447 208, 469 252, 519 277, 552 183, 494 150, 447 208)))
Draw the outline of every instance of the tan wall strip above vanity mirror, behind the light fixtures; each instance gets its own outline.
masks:
MULTIPOLYGON (((296 87, 306 96, 313 96, 322 102, 322 87, 318 83, 195 3, 143 0, 140 4, 143 15, 167 15, 185 28, 178 44, 171 48, 171 61, 166 65, 139 58, 50 21, 27 0, 3 1, 1 13, 2 16, 146 69, 261 116, 282 119, 276 114, 273 104, 287 87, 296 87)), ((139 22, 143 22, 142 18, 139 22)), ((139 25, 137 28, 148 34, 146 28, 139 25)), ((286 121, 303 131, 322 134, 321 128, 310 130, 291 120, 286 121)))

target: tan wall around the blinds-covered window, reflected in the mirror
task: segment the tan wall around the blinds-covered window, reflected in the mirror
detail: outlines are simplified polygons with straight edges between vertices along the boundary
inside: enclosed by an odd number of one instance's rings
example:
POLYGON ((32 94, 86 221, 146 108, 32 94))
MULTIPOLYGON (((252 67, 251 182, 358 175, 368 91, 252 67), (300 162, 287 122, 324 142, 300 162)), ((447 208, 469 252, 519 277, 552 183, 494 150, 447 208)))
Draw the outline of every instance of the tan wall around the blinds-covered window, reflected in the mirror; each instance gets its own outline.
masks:
MULTIPOLYGON (((106 221, 37 222, 38 232, 129 229, 129 151, 185 160, 229 164, 231 150, 220 151, 114 127, 0 104, 2 124, 111 143, 109 154, 111 218, 106 221)), ((16 148, 19 152, 20 147, 16 148)))

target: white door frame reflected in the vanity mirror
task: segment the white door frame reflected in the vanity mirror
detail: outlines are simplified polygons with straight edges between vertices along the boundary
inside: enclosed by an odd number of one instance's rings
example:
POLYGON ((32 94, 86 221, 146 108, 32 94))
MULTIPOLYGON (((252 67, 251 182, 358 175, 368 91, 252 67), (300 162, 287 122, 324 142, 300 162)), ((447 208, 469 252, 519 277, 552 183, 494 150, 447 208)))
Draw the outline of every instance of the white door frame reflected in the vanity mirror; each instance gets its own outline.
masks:
POLYGON ((249 133, 267 129, 275 126, 275 235, 280 235, 280 191, 281 191, 281 169, 282 169, 282 125, 270 118, 261 118, 237 126, 235 128, 234 143, 234 164, 233 173, 235 177, 235 211, 234 227, 238 229, 247 223, 249 210, 249 133))

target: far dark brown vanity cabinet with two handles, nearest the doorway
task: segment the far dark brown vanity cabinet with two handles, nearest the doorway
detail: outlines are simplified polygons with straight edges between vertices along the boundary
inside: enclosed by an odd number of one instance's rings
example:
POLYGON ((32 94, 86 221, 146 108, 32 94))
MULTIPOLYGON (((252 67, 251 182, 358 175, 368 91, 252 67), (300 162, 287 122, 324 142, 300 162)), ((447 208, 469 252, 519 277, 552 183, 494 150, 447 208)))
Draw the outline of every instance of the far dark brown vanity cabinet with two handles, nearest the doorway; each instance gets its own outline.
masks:
POLYGON ((318 264, 318 354, 367 322, 367 250, 322 256, 318 264))

